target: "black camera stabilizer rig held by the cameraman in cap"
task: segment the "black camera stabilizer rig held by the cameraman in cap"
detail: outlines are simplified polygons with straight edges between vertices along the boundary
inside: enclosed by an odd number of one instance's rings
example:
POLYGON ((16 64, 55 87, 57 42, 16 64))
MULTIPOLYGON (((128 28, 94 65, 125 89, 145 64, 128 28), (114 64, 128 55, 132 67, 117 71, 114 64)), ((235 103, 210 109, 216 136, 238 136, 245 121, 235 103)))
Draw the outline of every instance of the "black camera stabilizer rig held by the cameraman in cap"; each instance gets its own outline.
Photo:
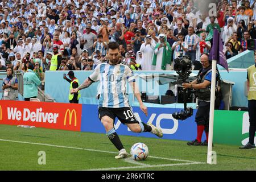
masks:
MULTIPOLYGON (((192 69, 192 63, 189 59, 189 56, 179 56, 174 60, 174 70, 179 75, 177 84, 182 84, 183 82, 188 82, 188 77, 190 75, 192 69)), ((193 109, 192 107, 187 107, 187 98, 191 95, 192 90, 191 89, 181 89, 181 92, 183 94, 183 103, 184 103, 184 110, 181 110, 180 112, 175 112, 172 114, 172 117, 175 119, 181 119, 185 120, 188 117, 191 117, 193 115, 193 109)))

